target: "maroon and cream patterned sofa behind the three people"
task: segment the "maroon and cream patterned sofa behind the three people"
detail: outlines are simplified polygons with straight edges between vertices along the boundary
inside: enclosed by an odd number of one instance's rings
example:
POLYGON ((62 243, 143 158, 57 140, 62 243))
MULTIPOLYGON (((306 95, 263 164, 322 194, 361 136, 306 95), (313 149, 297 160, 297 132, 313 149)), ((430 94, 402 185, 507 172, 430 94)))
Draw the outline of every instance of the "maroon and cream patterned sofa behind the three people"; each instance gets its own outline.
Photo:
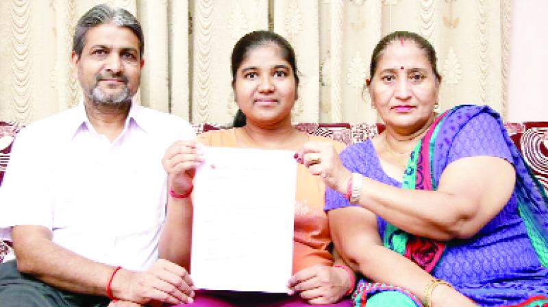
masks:
MULTIPOLYGON (((525 161, 548 191, 548 121, 505 123, 505 126, 525 161)), ((210 124, 196 124, 193 127, 197 134, 223 129, 210 124)), ((295 127, 308 134, 326 136, 347 145, 372 138, 384 130, 381 123, 299 123, 295 127)), ((21 125, 0 121, 0 189, 5 168, 10 160, 13 140, 21 128, 21 125)), ((5 208, 0 208, 0 214, 1 210, 5 208)), ((9 242, 0 241, 0 263, 12 252, 9 242)))

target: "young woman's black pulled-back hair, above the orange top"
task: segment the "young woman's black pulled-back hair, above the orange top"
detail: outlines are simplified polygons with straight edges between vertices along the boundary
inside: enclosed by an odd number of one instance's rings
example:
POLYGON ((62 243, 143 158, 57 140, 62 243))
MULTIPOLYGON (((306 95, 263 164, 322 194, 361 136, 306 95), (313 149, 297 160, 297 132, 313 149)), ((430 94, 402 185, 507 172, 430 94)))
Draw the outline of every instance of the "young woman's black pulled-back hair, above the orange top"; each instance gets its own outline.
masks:
MULTIPOLYGON (((247 57, 249 51, 255 49, 256 47, 269 44, 274 44, 279 48, 280 52, 282 53, 282 58, 284 58, 284 60, 286 60, 291 65, 293 75, 295 75, 295 88, 299 86, 299 75, 297 74, 295 51, 293 50, 289 42, 285 38, 278 34, 275 34, 274 32, 260 30, 253 31, 245 34, 245 36, 242 36, 242 38, 240 38, 240 40, 236 42, 236 45, 234 45, 234 49, 232 49, 232 56, 230 58, 230 69, 232 70, 232 88, 234 88, 234 84, 236 82, 236 73, 238 73, 238 69, 247 57)), ((242 112, 242 110, 238 110, 238 112, 236 112, 236 116, 234 116, 234 121, 232 122, 232 125, 234 127, 243 127, 245 126, 245 123, 245 114, 242 112)))

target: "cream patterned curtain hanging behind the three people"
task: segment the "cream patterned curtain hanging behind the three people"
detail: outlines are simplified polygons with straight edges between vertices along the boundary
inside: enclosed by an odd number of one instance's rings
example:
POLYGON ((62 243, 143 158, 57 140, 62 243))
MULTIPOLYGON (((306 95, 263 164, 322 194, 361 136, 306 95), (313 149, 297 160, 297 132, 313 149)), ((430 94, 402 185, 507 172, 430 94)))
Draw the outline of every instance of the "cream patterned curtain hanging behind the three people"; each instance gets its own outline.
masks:
POLYGON ((373 47, 395 30, 434 45, 443 76, 440 111, 477 103, 506 116, 510 0, 3 0, 1 121, 30 123, 78 103, 73 31, 79 16, 103 2, 142 24, 137 101, 192 123, 232 121, 230 53, 255 29, 281 34, 297 53, 295 123, 377 121, 364 80, 373 47))

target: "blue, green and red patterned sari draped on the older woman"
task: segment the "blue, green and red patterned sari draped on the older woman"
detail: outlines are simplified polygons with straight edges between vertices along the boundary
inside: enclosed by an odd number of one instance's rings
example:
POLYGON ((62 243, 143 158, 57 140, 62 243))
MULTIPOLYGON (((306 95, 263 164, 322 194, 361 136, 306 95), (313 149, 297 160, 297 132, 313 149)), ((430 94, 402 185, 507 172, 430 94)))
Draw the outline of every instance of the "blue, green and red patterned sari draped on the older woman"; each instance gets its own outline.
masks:
MULTIPOLYGON (((538 262, 546 268, 548 267, 548 198, 546 192, 536 180, 530 168, 527 167, 521 153, 508 136, 499 114, 487 106, 458 106, 438 116, 410 155, 401 187, 436 191, 440 176, 447 167, 453 140, 456 139, 466 123, 481 114, 493 116, 503 134, 506 146, 511 153, 510 162, 516 170, 516 185, 512 196, 515 197, 517 202, 516 210, 523 224, 525 224, 527 236, 534 248, 538 262)), ((408 234, 394 225, 390 225, 390 223, 384 222, 384 225, 383 239, 385 247, 406 256, 406 258, 414 261, 425 271, 438 278, 449 279, 449 275, 446 273, 447 270, 441 268, 443 265, 447 267, 447 264, 440 264, 445 260, 446 249, 452 249, 451 260, 449 261, 452 262, 452 265, 458 266, 460 263, 456 261, 458 256, 453 252, 454 250, 466 251, 466 249, 480 248, 477 244, 480 240, 438 242, 408 234), (467 245, 469 243, 470 245, 467 245)), ((482 242, 481 245, 486 246, 488 243, 482 242)), ((511 247, 511 245, 507 247, 511 247)), ((462 252, 462 255, 466 255, 466 253, 462 252)), ((504 296, 512 297, 512 295, 523 299, 519 304, 512 306, 544 306, 543 304, 548 304, 548 297, 535 295, 535 287, 530 289, 530 295, 523 297, 523 293, 527 293, 527 289, 524 288, 526 286, 523 285, 523 282, 513 282, 516 278, 521 280, 531 278, 530 283, 536 285, 537 289, 539 287, 543 288, 544 285, 548 286, 548 275, 546 275, 545 269, 539 269, 540 265, 536 268, 532 266, 531 269, 536 271, 508 272, 508 275, 504 275, 503 266, 504 264, 501 264, 501 272, 493 274, 496 278, 485 280, 484 284, 472 284, 464 277, 461 279, 458 273, 451 275, 452 280, 450 281, 461 293, 474 299, 480 306, 501 306, 501 304, 494 302, 497 302, 497 299, 505 299, 504 296)), ((458 267, 455 269, 458 269, 458 267)), ((394 297, 394 301, 390 303, 391 306, 421 306, 418 299, 408 291, 385 284, 371 284, 366 280, 362 280, 358 284, 353 299, 356 306, 365 306, 367 299, 372 300, 373 297, 378 297, 383 293, 390 293, 394 297), (395 292, 403 295, 394 295, 395 292)), ((548 288, 544 293, 548 293, 548 288)), ((510 299, 508 299, 508 302, 510 302, 510 299)), ((375 305, 369 304, 368 306, 375 305)))

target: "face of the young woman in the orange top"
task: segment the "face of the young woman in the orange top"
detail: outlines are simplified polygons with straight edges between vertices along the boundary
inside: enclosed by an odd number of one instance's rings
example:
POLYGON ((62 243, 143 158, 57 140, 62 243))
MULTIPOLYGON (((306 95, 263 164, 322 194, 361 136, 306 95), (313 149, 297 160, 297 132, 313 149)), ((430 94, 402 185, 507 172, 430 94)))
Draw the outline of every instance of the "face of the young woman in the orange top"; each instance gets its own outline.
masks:
POLYGON ((277 45, 260 45, 247 52, 236 71, 234 93, 248 124, 290 124, 297 84, 291 65, 282 58, 277 45))

